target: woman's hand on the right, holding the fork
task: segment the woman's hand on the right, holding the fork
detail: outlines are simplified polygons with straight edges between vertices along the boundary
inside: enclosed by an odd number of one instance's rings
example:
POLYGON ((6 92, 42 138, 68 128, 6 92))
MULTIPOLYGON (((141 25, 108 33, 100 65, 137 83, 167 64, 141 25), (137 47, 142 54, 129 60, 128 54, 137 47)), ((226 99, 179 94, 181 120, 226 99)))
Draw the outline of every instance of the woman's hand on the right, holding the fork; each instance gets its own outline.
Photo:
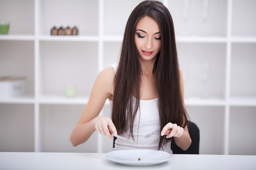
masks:
POLYGON ((171 122, 169 122, 162 129, 161 136, 163 136, 166 133, 170 133, 169 135, 166 135, 166 138, 181 137, 183 132, 184 128, 177 126, 177 124, 172 124, 171 122))

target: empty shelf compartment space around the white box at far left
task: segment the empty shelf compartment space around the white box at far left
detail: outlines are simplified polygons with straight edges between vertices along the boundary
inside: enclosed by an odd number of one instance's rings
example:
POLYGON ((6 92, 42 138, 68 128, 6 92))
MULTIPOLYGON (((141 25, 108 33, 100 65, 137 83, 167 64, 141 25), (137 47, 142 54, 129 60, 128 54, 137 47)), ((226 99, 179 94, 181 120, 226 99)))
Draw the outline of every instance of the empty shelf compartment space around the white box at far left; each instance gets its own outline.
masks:
POLYGON ((34 41, 0 40, 0 56, 0 76, 26 77, 26 96, 34 96, 34 41))

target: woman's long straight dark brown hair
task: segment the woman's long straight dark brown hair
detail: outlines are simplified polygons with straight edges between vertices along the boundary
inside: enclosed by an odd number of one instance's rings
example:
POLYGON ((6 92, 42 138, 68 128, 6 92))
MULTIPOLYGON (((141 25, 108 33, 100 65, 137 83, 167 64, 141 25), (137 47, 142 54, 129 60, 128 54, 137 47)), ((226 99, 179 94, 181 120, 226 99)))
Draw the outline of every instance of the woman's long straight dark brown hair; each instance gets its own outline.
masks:
MULTIPOLYGON (((112 106, 112 121, 118 133, 122 135, 128 132, 129 137, 132 137, 132 139, 134 139, 133 123, 139 108, 142 77, 134 35, 137 22, 145 16, 156 20, 161 32, 161 48, 156 56, 153 69, 158 92, 160 127, 163 128, 168 122, 182 127, 187 124, 180 86, 180 71, 173 20, 170 12, 161 2, 146 0, 135 7, 126 24, 119 66, 115 77, 112 106), (132 96, 135 97, 135 102, 132 96)), ((167 141, 168 139, 161 137, 159 148, 166 144, 167 141)))

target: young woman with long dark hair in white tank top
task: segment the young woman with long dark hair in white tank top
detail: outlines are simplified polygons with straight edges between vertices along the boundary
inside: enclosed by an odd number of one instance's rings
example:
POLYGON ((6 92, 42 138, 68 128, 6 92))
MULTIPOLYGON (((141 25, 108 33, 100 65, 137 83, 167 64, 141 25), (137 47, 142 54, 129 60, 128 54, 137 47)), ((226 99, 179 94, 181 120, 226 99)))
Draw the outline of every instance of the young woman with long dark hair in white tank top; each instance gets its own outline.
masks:
POLYGON ((119 63, 99 73, 70 141, 82 144, 97 130, 117 136, 115 150, 172 153, 171 139, 186 150, 191 138, 183 91, 171 14, 161 2, 141 2, 128 19, 119 63), (111 118, 99 115, 106 99, 111 118), (150 132, 159 135, 144 139, 150 132))

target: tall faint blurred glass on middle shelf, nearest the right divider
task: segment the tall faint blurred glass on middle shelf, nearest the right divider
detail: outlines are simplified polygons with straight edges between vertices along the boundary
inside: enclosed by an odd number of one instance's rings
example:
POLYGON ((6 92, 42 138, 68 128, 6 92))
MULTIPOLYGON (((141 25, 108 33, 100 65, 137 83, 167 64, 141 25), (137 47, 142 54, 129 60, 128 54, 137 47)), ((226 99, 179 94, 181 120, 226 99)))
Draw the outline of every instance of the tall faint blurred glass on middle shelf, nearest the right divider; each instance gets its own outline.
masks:
POLYGON ((209 69, 209 63, 203 62, 202 64, 202 97, 207 98, 208 97, 208 86, 209 86, 209 77, 210 77, 210 69, 209 69))

